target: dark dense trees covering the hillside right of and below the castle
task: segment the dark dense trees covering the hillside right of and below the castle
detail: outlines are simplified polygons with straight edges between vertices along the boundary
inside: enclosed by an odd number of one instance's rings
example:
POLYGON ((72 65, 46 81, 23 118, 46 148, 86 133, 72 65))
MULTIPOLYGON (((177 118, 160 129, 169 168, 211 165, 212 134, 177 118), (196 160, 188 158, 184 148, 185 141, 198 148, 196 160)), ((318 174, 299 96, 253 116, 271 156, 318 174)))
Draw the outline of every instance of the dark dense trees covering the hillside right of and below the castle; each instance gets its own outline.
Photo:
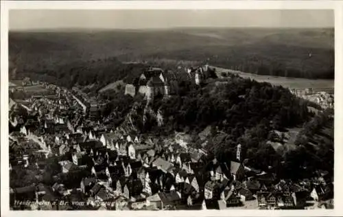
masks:
POLYGON ((157 126, 152 120, 141 130, 166 136, 173 135, 174 130, 185 132, 191 135, 191 146, 200 148, 203 141, 198 133, 213 126, 204 148, 219 161, 235 159, 237 144, 241 144, 246 165, 282 178, 308 178, 316 170, 333 172, 333 140, 323 143, 316 138, 332 117, 327 112, 315 116, 308 105, 283 87, 230 75, 225 82, 210 82, 170 98, 156 98, 153 110, 161 111, 164 125, 157 126), (274 130, 287 132, 292 127, 304 130, 298 135, 296 148, 281 155, 267 141, 283 143, 274 130), (307 140, 301 139, 303 135, 307 140), (316 149, 308 144, 310 138, 318 143, 316 149))

